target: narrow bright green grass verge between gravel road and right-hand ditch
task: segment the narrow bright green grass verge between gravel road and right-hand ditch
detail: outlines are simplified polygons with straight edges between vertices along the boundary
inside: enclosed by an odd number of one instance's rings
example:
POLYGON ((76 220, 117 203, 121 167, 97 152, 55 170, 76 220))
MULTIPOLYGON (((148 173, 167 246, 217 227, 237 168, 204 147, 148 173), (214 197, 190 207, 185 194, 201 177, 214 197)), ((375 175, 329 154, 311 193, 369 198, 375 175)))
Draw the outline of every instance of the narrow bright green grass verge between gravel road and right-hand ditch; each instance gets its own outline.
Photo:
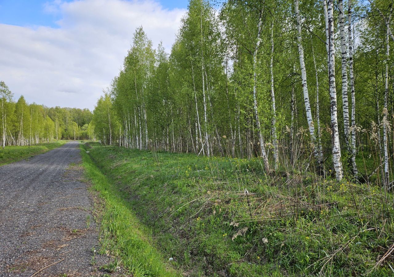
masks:
MULTIPOLYGON (((135 277, 180 276, 171 268, 171 264, 165 262, 168 258, 155 247, 151 230, 140 223, 127 201, 127 195, 117 190, 113 180, 97 168, 84 148, 81 154, 85 174, 93 184, 92 189, 99 192, 105 203, 101 211, 102 253, 111 251, 116 257, 120 257, 123 266, 135 277)), ((116 259, 115 263, 105 266, 104 269, 115 271, 116 259)))

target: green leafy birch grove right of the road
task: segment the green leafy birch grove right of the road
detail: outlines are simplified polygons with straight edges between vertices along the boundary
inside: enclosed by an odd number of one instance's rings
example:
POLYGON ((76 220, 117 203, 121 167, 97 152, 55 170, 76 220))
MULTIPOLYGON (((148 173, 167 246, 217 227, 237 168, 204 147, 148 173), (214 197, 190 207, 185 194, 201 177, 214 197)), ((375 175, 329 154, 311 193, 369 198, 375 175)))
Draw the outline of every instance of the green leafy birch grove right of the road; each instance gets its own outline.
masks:
MULTIPOLYGON (((375 2, 381 11, 388 12, 385 1, 375 2)), ((352 34, 357 42, 353 55, 357 101, 356 150, 380 156, 378 151, 381 151, 382 139, 379 142, 370 141, 368 131, 372 121, 377 123, 382 119, 387 58, 385 24, 376 15, 375 9, 369 9, 357 1, 352 1, 351 4, 355 21, 352 34), (368 15, 368 18, 361 15, 368 15), (362 126, 368 131, 361 132, 362 126)), ((301 167, 309 166, 309 162, 302 162, 310 160, 313 155, 310 134, 305 132, 308 123, 300 77, 293 1, 228 0, 217 8, 207 0, 191 0, 169 54, 161 44, 154 49, 142 26, 138 27, 124 59, 123 69, 113 79, 108 91, 104 92, 105 95, 98 100, 94 122, 89 125, 89 132, 86 133, 90 138, 97 137, 103 144, 119 144, 134 149, 201 152, 207 155, 209 147, 215 155, 240 158, 260 156, 259 130, 256 128, 252 97, 253 75, 256 73, 260 132, 266 142, 264 146, 269 162, 272 163, 273 156, 272 122, 275 117, 279 163, 285 167, 297 167, 297 162, 302 163, 301 167), (260 16, 261 42, 258 49, 255 49, 260 16), (270 96, 271 24, 275 113, 270 96), (256 69, 253 69, 254 64, 256 69)), ((309 101, 313 117, 316 117, 317 104, 320 107, 323 160, 327 161, 325 167, 329 170, 333 169, 333 165, 325 18, 322 4, 316 1, 301 1, 299 10, 303 21, 301 35, 309 101), (320 84, 319 103, 316 103, 318 87, 315 74, 320 84)), ((338 12, 335 6, 335 17, 338 12)), ((345 18, 347 20, 346 16, 345 18)), ((335 24, 335 29, 337 28, 335 24)), ((338 45, 338 36, 336 40, 338 45)), ((392 43, 390 40, 389 46, 392 43)), ((392 52, 388 60, 389 68, 392 52)), ((340 64, 340 58, 341 53, 337 51, 337 64, 340 64)), ((338 126, 346 175, 350 174, 352 168, 348 162, 351 153, 348 153, 348 145, 344 143, 340 95, 342 82, 338 81, 342 78, 341 74, 340 70, 336 70, 338 126)), ((389 83, 392 84, 392 74, 389 75, 389 83)), ((392 100, 388 101, 390 112, 393 105, 392 100)), ((315 129, 316 127, 317 125, 315 129)), ((380 124, 372 131, 381 138, 382 129, 380 124)), ((392 136, 389 135, 388 138, 389 152, 393 152, 392 136)), ((371 171, 378 166, 378 163, 375 164, 371 171)), ((367 174, 362 168, 360 173, 359 177, 367 174)))

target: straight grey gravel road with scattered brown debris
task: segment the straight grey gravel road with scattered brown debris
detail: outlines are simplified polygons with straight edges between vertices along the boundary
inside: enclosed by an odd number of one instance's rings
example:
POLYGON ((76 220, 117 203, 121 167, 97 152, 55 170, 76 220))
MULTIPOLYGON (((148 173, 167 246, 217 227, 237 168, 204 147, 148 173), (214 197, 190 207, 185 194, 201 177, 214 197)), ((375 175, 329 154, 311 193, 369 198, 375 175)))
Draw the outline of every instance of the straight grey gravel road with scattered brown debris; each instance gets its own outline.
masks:
POLYGON ((100 275, 79 145, 0 167, 0 276, 100 275))

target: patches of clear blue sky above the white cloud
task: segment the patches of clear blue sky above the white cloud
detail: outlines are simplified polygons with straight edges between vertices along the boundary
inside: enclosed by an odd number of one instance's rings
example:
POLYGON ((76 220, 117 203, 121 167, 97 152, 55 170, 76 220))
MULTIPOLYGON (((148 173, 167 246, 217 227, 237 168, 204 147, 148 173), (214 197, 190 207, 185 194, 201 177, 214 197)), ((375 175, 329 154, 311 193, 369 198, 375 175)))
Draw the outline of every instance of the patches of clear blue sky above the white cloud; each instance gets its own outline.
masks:
MULTIPOLYGON (((17 26, 48 26, 58 28, 56 21, 61 19, 60 13, 45 11, 48 0, 0 0, 0 24, 17 26)), ((61 2, 72 2, 63 0, 61 2)), ((139 1, 143 2, 143 1, 139 1)), ((157 1, 166 8, 186 9, 188 0, 160 0, 157 1)))

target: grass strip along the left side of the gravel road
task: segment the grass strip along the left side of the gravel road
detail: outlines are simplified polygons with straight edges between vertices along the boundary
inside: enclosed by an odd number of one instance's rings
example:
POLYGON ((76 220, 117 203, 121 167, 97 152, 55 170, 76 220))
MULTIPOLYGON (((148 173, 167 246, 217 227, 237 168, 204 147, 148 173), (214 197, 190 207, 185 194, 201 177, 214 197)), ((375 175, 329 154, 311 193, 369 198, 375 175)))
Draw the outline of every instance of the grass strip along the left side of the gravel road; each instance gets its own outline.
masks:
POLYGON ((5 149, 0 148, 0 165, 10 164, 45 153, 65 144, 66 142, 67 141, 65 140, 59 140, 50 143, 39 143, 32 146, 6 146, 5 149))

